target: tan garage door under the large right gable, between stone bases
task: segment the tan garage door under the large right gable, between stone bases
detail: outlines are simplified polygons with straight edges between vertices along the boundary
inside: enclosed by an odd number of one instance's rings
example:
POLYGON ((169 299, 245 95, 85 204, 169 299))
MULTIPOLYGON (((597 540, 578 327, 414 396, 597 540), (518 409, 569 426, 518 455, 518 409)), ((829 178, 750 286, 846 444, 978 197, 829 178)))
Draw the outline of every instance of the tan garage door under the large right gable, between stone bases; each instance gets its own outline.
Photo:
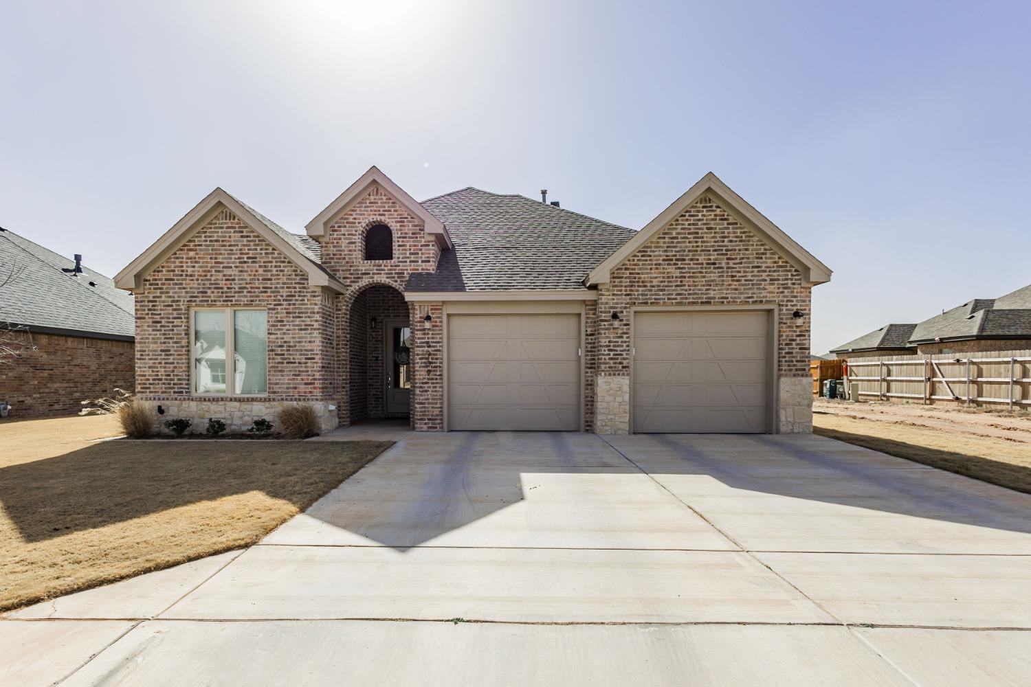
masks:
POLYGON ((766 312, 634 315, 634 432, 766 432, 766 312))

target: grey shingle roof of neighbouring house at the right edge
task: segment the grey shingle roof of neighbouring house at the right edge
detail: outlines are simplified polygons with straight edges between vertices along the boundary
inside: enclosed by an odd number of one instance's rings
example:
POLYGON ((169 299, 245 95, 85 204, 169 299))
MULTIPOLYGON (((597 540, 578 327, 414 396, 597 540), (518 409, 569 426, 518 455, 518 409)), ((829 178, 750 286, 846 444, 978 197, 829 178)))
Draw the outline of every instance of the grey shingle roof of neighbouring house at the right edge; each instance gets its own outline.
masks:
POLYGON ((909 343, 1031 339, 1031 284, 997 299, 973 299, 917 325, 909 343))

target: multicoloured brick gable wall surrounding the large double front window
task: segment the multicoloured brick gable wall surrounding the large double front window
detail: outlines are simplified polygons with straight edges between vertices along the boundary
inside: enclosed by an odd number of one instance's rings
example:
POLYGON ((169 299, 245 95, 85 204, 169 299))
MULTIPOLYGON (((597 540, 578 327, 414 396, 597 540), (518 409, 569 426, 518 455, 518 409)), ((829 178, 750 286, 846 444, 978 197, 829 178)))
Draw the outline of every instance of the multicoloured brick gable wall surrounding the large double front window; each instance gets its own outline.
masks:
POLYGON ((136 294, 139 394, 189 398, 190 308, 230 306, 268 310, 269 399, 335 396, 330 301, 226 209, 143 278, 136 294))

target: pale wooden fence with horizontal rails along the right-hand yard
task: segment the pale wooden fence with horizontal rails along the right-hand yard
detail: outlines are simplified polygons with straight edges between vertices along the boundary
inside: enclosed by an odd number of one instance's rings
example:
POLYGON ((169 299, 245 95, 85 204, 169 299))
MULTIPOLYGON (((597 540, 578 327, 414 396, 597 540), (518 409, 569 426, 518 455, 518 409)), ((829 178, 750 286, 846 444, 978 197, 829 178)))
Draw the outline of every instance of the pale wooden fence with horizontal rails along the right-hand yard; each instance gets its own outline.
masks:
POLYGON ((925 404, 1005 404, 1031 408, 1031 351, 895 355, 849 360, 845 388, 859 399, 920 400, 925 404))

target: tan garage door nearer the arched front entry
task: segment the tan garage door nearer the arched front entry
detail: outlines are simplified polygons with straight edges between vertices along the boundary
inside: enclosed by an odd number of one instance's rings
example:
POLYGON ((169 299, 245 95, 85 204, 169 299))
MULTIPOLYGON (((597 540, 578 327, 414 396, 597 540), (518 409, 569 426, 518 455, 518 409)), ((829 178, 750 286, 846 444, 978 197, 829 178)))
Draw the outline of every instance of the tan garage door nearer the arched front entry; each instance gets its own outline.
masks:
POLYGON ((450 315, 451 430, 579 430, 578 315, 450 315))

